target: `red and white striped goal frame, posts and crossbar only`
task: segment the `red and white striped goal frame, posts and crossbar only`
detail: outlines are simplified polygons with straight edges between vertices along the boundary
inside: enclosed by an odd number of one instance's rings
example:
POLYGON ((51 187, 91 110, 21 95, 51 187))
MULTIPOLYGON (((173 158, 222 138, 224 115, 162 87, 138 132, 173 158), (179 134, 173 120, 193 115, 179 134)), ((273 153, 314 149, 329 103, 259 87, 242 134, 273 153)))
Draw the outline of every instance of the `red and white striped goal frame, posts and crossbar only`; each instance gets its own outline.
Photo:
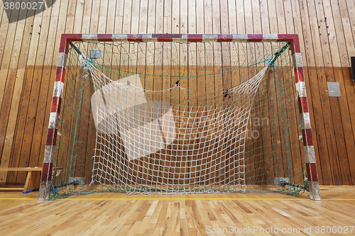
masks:
POLYGON ((297 34, 62 34, 58 53, 57 70, 50 106, 47 141, 43 158, 42 176, 38 200, 47 200, 53 173, 55 146, 57 142, 60 105, 65 82, 67 54, 71 42, 287 42, 290 43, 294 64, 295 87, 300 112, 305 167, 310 199, 320 200, 315 147, 313 145, 310 113, 302 67, 300 41, 297 34))

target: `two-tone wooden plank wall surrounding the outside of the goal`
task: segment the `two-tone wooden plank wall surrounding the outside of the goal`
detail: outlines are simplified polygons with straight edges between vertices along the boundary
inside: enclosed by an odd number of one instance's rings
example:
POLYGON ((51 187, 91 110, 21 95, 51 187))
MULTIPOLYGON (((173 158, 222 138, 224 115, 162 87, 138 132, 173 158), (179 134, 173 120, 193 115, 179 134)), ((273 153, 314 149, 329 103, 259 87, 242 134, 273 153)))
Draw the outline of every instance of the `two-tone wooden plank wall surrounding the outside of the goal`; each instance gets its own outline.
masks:
MULTIPOLYGON (((61 33, 297 33, 320 184, 355 184, 354 0, 50 0, 0 2, 0 167, 41 166, 61 33), (33 14, 36 13, 34 16, 33 14), (342 96, 329 98, 327 82, 342 96)), ((0 172, 0 184, 23 184, 0 172)))

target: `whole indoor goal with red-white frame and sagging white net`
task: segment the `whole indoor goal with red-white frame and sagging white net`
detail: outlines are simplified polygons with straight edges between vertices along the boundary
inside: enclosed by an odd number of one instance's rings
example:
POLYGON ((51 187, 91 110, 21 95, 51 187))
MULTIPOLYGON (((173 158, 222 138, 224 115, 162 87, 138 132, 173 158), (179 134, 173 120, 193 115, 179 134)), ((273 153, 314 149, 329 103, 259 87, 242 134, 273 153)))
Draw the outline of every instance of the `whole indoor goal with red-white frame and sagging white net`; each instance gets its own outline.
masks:
POLYGON ((310 191, 297 35, 62 35, 40 199, 310 191))

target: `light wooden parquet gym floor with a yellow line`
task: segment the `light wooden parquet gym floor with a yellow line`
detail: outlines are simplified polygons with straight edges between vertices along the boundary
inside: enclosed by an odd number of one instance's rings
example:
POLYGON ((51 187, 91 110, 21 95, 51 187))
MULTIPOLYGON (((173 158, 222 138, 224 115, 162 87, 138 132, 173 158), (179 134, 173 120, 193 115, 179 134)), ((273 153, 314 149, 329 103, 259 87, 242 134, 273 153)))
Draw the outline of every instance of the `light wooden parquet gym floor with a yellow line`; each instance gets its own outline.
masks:
POLYGON ((307 193, 94 193, 37 201, 35 192, 1 192, 0 234, 354 235, 354 187, 321 189, 322 201, 307 193))

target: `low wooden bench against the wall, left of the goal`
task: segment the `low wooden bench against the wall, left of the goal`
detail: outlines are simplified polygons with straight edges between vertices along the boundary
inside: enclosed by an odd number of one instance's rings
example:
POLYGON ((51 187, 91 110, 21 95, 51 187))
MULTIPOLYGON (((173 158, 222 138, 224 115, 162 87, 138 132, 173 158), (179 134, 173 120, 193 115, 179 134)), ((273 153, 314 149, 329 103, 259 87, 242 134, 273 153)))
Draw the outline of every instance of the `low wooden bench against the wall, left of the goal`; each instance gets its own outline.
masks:
POLYGON ((40 188, 40 173, 42 167, 4 167, 0 168, 0 172, 27 172, 25 186, 6 186, 1 187, 1 190, 22 190, 22 193, 30 193, 37 191, 40 188))

